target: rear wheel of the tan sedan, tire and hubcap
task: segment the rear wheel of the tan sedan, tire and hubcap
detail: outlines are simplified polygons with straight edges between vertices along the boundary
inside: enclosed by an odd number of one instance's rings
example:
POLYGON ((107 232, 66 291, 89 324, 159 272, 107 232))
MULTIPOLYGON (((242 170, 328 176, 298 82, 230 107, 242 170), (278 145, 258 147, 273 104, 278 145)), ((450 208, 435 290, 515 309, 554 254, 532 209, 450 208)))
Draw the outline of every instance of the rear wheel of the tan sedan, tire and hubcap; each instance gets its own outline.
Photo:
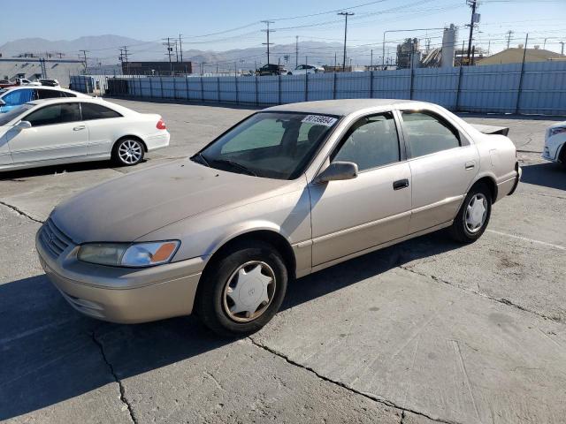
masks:
POLYGON ((473 243, 486 231, 491 215, 491 191, 484 183, 476 184, 470 188, 470 192, 464 199, 449 229, 450 235, 460 243, 473 243), (485 209, 484 212, 482 208, 485 209))

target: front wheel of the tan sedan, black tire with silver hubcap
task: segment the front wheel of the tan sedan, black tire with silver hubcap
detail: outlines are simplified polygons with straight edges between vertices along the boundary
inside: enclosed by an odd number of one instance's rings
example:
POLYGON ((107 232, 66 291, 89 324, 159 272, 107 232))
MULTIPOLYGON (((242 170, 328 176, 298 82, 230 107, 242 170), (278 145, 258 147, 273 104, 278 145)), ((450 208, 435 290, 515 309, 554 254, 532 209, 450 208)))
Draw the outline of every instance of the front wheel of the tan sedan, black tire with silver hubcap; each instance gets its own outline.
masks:
POLYGON ((219 336, 247 336, 277 313, 287 291, 287 276, 285 261, 272 245, 259 240, 237 243, 205 270, 195 311, 219 336), (241 279, 244 274, 249 277, 241 279), (267 278, 272 278, 272 283, 267 283, 267 278), (259 279, 263 281, 258 283, 259 279), (233 299, 244 300, 235 303, 233 299), (254 309, 256 304, 256 316, 249 311, 237 312, 242 307, 254 309))

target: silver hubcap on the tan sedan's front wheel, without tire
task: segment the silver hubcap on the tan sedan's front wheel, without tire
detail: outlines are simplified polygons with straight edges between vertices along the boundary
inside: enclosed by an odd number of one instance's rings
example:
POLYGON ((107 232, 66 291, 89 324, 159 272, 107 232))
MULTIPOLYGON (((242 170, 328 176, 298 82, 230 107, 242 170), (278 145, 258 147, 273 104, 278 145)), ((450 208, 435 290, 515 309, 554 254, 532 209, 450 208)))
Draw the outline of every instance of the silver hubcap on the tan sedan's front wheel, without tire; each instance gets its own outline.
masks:
POLYGON ((264 261, 249 261, 236 269, 224 288, 223 306, 236 322, 250 322, 272 303, 275 273, 264 261))

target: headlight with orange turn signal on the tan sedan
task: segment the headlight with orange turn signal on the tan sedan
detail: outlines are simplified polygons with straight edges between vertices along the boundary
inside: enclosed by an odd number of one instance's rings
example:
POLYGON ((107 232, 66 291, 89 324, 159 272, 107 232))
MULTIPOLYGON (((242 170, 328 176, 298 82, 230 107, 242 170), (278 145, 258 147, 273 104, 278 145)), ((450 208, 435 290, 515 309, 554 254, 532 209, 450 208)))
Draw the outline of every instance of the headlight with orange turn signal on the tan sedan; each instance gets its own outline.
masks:
POLYGON ((180 245, 178 240, 149 243, 88 243, 80 246, 80 261, 112 267, 151 267, 171 261, 180 245))

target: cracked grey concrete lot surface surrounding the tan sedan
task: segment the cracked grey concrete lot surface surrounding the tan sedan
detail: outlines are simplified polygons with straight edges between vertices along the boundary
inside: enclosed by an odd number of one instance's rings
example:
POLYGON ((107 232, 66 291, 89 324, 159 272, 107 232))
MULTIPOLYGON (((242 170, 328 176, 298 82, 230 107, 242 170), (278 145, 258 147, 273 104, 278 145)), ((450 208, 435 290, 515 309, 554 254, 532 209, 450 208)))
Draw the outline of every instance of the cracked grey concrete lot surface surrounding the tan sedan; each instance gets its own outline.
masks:
POLYGON ((0 174, 0 420, 14 422, 563 422, 566 169, 540 159, 564 118, 509 126, 524 170, 477 243, 443 233, 289 285, 252 337, 194 318, 143 325, 73 311, 34 234, 65 198, 194 153, 254 110, 114 100, 159 113, 170 148, 134 168, 82 163, 0 174))

